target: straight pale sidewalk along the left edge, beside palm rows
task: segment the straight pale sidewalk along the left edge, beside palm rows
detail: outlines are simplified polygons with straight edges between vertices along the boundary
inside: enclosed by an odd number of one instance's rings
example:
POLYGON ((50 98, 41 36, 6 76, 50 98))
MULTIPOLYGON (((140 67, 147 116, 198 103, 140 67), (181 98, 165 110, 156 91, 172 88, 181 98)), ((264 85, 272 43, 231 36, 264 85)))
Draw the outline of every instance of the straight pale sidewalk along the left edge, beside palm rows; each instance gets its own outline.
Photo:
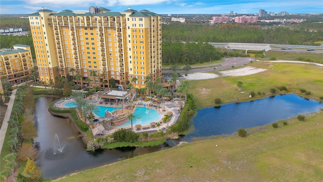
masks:
POLYGON ((8 121, 9 121, 10 116, 11 116, 12 107, 14 106, 16 92, 17 92, 17 89, 14 89, 12 91, 12 94, 10 96, 10 101, 7 104, 8 107, 7 107, 7 111, 6 111, 6 114, 5 114, 4 122, 2 123, 2 126, 1 126, 1 130, 0 130, 0 153, 2 151, 2 146, 4 145, 4 142, 5 142, 6 132, 7 132, 7 128, 8 128, 8 121))

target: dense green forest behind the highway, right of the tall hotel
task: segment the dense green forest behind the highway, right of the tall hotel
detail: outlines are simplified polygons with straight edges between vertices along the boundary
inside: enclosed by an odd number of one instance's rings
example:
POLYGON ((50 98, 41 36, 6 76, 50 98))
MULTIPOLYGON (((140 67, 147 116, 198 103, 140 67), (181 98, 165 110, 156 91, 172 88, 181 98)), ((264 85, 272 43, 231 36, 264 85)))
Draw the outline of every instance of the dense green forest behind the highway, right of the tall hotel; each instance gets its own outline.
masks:
POLYGON ((299 25, 297 27, 294 26, 293 29, 291 29, 289 27, 277 26, 264 29, 261 26, 250 24, 227 23, 219 24, 218 26, 205 26, 199 24, 174 23, 162 25, 162 37, 163 40, 179 41, 295 45, 319 45, 314 42, 323 40, 323 30, 308 31, 303 25, 299 25))

